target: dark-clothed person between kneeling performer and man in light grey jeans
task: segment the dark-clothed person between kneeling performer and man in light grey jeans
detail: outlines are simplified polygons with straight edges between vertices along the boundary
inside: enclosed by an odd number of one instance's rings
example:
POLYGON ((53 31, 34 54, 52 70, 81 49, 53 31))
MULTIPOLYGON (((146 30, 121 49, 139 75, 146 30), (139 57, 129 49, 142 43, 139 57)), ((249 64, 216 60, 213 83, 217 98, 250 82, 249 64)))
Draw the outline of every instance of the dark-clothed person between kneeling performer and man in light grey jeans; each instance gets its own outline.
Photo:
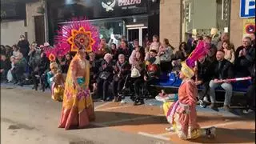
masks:
POLYGON ((198 99, 200 102, 200 106, 206 107, 205 103, 203 102, 203 98, 208 95, 209 92, 209 83, 212 77, 211 69, 210 69, 211 62, 206 59, 206 57, 198 59, 198 66, 196 66, 195 71, 197 71, 197 76, 195 80, 195 84, 197 86, 202 86, 202 91, 198 93, 198 99))

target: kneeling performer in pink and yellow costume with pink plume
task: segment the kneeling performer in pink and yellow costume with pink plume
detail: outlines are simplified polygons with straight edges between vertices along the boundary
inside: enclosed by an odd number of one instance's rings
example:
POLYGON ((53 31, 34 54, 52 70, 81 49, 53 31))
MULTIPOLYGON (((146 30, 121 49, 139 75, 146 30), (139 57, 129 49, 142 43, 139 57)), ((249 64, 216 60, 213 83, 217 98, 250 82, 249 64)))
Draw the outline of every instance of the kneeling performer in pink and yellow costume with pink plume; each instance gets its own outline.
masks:
POLYGON ((173 130, 182 139, 215 136, 215 127, 200 129, 198 126, 196 114, 198 88, 194 80, 192 80, 192 77, 194 77, 194 63, 198 58, 202 58, 207 54, 209 47, 209 43, 198 42, 195 50, 185 62, 182 62, 182 70, 179 73, 182 84, 178 89, 178 95, 170 96, 173 100, 173 105, 165 112, 167 121, 172 126, 169 130, 173 130))

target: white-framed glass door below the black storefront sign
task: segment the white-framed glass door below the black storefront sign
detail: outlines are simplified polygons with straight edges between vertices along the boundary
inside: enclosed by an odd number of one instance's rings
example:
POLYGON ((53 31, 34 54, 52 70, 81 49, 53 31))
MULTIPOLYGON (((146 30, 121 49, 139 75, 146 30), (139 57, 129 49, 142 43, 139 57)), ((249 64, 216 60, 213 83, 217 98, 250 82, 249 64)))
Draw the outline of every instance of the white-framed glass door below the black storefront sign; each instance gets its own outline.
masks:
POLYGON ((138 39, 139 46, 142 46, 142 42, 145 40, 148 34, 147 26, 126 26, 127 27, 127 40, 133 42, 138 39))

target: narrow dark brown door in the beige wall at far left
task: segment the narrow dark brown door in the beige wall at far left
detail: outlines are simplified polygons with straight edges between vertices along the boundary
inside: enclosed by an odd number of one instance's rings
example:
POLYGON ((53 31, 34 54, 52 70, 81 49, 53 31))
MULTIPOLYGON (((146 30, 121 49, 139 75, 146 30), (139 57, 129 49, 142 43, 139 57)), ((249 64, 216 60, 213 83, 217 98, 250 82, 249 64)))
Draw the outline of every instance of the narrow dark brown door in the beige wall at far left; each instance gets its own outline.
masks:
POLYGON ((34 35, 38 45, 43 45, 46 42, 45 19, 43 15, 34 16, 34 35))

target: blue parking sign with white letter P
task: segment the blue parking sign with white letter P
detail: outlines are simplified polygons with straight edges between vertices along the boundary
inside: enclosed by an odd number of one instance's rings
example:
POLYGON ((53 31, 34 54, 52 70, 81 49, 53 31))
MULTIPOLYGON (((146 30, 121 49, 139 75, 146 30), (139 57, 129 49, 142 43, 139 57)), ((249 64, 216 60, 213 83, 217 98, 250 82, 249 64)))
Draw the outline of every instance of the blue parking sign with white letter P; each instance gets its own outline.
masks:
POLYGON ((255 18, 255 0, 240 0, 240 17, 255 18))

